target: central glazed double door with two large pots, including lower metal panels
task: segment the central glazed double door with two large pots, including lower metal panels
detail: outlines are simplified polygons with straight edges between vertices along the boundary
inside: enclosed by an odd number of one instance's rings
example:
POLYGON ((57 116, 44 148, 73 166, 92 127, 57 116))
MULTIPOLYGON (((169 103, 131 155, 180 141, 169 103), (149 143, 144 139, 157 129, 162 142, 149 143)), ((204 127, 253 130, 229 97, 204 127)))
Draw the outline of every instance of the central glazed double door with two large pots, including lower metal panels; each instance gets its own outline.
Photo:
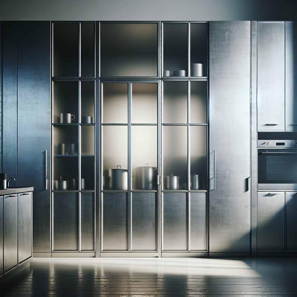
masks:
POLYGON ((100 255, 110 252, 157 255, 159 84, 102 82, 101 94, 100 255), (108 205, 115 205, 113 211, 108 205), (111 213, 117 219, 108 219, 111 213))

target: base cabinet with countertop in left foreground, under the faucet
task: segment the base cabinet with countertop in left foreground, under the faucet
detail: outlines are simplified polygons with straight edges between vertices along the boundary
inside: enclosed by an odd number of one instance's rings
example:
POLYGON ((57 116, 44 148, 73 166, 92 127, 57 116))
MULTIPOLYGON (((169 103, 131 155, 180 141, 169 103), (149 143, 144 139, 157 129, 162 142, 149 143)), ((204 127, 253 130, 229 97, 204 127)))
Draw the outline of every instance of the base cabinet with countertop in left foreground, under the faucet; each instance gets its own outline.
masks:
POLYGON ((17 190, 0 190, 0 285, 29 267, 32 257, 33 188, 17 190))

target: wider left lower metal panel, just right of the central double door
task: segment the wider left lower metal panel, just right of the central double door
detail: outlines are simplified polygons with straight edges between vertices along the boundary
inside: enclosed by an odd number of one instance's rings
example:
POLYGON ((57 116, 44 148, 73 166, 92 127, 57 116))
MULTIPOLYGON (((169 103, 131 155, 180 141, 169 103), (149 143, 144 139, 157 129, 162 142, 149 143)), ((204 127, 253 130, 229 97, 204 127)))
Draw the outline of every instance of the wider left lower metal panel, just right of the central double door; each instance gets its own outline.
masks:
POLYGON ((187 251, 187 193, 163 193, 162 225, 162 251, 187 251))

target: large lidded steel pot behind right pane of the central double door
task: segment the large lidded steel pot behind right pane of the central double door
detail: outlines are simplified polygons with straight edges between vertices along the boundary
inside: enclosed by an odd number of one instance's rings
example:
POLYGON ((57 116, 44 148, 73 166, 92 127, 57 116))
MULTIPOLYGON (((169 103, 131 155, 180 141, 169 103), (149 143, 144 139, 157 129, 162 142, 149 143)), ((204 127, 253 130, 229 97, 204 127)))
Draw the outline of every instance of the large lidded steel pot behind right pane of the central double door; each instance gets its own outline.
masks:
POLYGON ((156 190, 157 189, 157 167, 146 166, 134 168, 135 171, 135 189, 137 190, 156 190))

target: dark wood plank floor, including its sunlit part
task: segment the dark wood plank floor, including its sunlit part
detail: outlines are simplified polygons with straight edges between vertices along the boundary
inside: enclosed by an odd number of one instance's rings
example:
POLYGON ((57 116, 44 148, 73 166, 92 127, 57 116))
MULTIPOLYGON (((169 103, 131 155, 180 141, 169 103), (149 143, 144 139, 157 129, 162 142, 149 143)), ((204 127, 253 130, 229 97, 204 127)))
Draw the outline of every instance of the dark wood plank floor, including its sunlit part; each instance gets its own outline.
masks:
POLYGON ((297 258, 33 258, 1 296, 297 296, 297 258))

